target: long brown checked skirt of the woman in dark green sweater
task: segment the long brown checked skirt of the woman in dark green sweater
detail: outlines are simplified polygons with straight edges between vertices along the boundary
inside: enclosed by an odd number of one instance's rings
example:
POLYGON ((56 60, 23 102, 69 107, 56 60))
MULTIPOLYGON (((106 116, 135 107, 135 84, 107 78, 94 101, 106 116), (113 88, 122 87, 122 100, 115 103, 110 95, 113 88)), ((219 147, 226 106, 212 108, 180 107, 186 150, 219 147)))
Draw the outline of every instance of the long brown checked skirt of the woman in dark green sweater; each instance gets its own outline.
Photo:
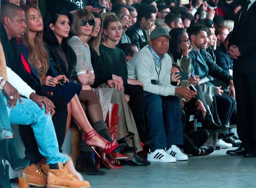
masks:
MULTIPOLYGON (((101 84, 98 88, 110 88, 106 83, 101 84)), ((138 135, 137 127, 133 118, 131 109, 125 99, 125 94, 122 90, 119 91, 120 115, 117 124, 117 140, 125 138, 130 147, 137 147, 138 150, 134 153, 125 153, 128 156, 127 160, 132 160, 137 152, 142 150, 141 141, 138 135)))

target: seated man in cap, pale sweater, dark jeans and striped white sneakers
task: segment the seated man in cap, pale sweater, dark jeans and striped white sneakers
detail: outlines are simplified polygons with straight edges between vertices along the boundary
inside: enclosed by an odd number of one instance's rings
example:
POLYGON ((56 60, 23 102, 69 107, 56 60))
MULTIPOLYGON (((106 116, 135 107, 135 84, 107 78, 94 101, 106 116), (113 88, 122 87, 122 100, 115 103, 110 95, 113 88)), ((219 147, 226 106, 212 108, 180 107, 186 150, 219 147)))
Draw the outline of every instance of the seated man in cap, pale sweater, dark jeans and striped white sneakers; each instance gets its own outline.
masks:
POLYGON ((147 131, 148 136, 154 138, 147 155, 148 161, 188 160, 188 156, 177 147, 183 145, 183 133, 180 98, 175 95, 188 100, 196 92, 171 85, 172 62, 167 54, 170 38, 166 28, 155 28, 150 34, 149 45, 127 63, 128 78, 140 80, 144 86, 147 131))

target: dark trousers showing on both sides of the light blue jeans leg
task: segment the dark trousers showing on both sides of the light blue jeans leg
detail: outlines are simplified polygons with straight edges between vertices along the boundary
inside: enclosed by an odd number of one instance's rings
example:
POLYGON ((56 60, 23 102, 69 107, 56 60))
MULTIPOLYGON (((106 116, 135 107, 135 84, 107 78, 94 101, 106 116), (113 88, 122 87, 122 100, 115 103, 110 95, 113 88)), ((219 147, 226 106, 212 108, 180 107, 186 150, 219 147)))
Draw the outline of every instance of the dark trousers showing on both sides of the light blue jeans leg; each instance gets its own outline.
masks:
MULTIPOLYGON (((52 100, 55 106, 55 114, 52 117, 52 122, 56 132, 59 150, 62 152, 61 147, 64 142, 67 125, 67 103, 59 97, 52 97, 50 100, 52 100)), ((37 164, 43 158, 35 140, 35 136, 37 135, 34 136, 31 125, 19 125, 19 133, 25 146, 26 158, 29 159, 31 163, 37 164)))

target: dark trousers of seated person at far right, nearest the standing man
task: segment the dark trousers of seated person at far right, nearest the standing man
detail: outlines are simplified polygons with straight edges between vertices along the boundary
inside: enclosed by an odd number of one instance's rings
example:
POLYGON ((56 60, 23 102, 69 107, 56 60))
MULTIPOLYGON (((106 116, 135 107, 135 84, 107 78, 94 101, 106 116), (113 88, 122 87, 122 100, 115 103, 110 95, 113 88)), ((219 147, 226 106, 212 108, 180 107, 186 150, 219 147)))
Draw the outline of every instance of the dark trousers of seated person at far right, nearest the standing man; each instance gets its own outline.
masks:
POLYGON ((236 100, 231 95, 227 95, 224 93, 222 93, 222 95, 216 94, 215 97, 219 120, 222 125, 228 125, 236 105, 236 100))

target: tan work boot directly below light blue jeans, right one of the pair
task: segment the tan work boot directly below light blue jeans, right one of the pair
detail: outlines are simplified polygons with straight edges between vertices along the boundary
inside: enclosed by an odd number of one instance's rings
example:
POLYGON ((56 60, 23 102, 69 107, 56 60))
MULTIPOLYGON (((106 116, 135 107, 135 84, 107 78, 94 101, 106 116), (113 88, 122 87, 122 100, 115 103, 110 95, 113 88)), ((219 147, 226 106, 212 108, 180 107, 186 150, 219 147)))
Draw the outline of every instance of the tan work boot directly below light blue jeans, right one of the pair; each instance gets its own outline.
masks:
POLYGON ((89 182, 75 179, 74 174, 65 165, 59 162, 58 169, 51 169, 50 167, 47 177, 47 188, 90 188, 89 182))

